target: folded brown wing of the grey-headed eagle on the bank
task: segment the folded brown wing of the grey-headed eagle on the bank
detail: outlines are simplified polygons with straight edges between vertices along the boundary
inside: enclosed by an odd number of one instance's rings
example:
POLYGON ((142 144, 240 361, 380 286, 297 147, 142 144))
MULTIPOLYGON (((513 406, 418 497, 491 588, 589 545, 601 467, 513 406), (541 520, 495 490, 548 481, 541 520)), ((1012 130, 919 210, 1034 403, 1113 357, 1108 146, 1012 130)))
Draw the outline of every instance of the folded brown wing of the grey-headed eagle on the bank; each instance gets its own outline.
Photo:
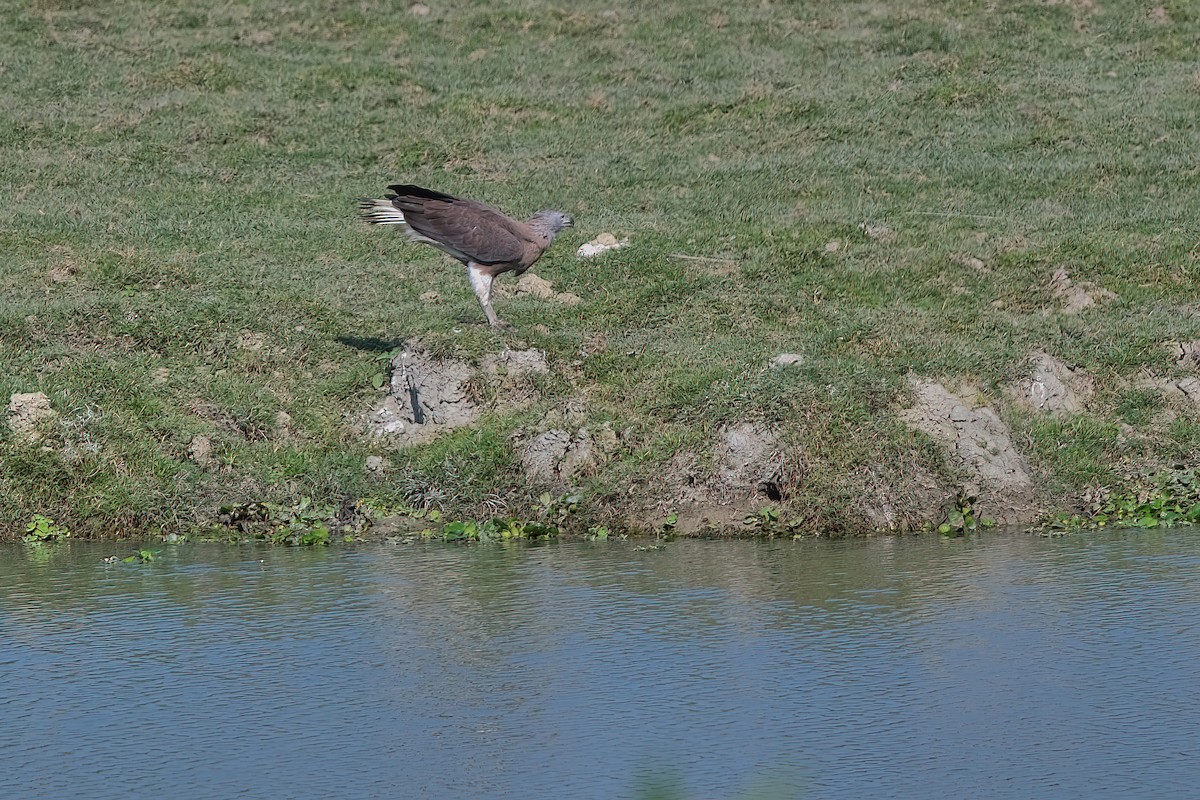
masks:
POLYGON ((462 260, 520 265, 533 239, 527 225, 496 209, 420 186, 389 186, 408 225, 462 260))

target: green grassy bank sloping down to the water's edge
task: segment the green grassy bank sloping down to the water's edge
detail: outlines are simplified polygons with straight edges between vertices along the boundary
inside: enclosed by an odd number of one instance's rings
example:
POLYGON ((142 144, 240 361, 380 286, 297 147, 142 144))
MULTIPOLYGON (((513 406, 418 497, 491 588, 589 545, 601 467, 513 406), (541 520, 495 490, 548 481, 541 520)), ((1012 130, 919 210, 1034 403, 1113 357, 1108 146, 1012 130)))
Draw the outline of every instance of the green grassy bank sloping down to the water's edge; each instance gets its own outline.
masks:
POLYGON ((2 10, 0 396, 56 413, 0 426, 10 534, 301 498, 532 517, 546 491, 649 521, 670 464, 712 468, 745 421, 792 455, 797 529, 862 527, 864 497, 908 524, 962 480, 898 416, 911 375, 995 408, 1048 509, 1195 461, 1200 414, 1163 383, 1200 339, 1193 4, 2 10), (457 265, 356 222, 396 181, 571 213, 536 272, 582 302, 502 299, 518 330, 492 332, 457 265), (576 258, 602 231, 630 245, 576 258), (361 417, 404 341, 551 369, 400 451, 361 417), (1037 353, 1090 377, 1084 408, 1012 401, 1037 353), (569 401, 618 446, 529 480, 514 433, 569 401))

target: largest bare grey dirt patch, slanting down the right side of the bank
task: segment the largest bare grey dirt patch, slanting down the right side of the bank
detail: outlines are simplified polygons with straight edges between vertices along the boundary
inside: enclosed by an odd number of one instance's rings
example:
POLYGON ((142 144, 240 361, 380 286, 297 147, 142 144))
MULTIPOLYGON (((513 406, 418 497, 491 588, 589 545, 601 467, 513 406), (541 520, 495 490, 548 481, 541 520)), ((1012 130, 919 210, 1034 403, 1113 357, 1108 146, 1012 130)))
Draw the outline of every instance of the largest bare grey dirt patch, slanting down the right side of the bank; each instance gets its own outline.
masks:
POLYGON ((1001 523, 1034 517, 1033 476, 1013 446, 1004 421, 978 402, 979 392, 964 387, 950 392, 942 384, 911 378, 916 405, 900 419, 940 443, 966 479, 962 493, 979 499, 977 511, 1001 523))

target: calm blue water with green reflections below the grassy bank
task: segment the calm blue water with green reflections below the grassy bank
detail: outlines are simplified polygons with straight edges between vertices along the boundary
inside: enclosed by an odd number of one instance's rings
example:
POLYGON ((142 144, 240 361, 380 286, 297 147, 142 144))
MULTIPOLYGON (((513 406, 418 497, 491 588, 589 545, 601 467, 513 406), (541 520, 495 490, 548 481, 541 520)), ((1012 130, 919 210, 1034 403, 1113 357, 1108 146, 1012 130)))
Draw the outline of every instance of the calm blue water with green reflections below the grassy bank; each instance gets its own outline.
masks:
POLYGON ((1200 792, 1200 531, 0 548, 0 798, 1200 792))

